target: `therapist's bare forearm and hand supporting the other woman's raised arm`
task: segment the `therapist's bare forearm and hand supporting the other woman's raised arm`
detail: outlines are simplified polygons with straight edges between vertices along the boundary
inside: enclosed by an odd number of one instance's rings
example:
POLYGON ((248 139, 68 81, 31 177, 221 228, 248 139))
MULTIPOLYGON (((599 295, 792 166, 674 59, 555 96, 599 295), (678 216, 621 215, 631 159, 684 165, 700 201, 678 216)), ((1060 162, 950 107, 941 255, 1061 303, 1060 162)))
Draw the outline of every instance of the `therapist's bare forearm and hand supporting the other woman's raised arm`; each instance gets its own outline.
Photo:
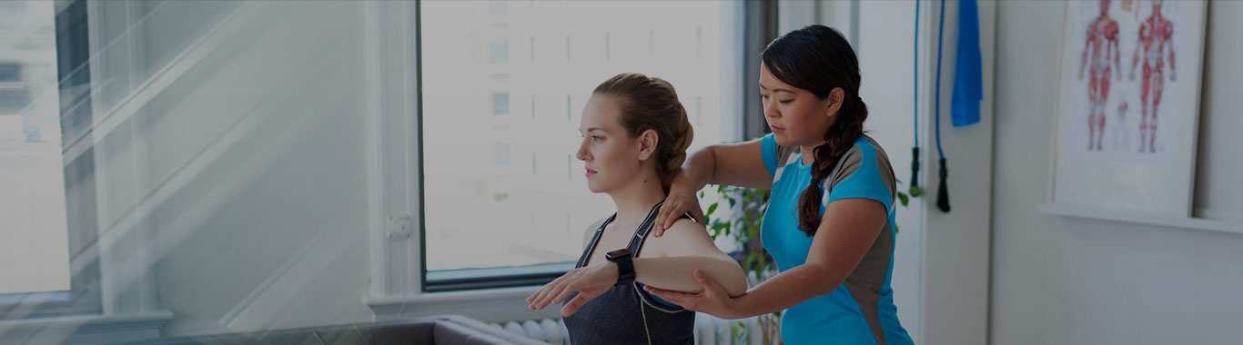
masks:
POLYGON ((845 282, 883 231, 885 206, 870 199, 829 202, 812 240, 807 262, 773 276, 741 297, 730 298, 710 277, 696 274, 704 285, 697 294, 648 288, 682 308, 741 319, 783 310, 825 295, 845 282))

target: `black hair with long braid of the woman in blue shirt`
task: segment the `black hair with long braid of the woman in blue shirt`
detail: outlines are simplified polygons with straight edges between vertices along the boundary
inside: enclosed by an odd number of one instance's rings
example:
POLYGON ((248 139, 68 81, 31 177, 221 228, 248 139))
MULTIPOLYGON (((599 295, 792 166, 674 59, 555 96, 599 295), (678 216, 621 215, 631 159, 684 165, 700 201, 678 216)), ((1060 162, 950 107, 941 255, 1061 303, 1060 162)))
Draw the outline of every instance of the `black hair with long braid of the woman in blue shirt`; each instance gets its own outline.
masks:
MULTIPOLYGON (((842 107, 837 119, 824 132, 825 144, 815 148, 812 179, 827 184, 829 170, 837 166, 854 141, 863 137, 868 104, 859 98, 859 58, 842 32, 822 25, 810 25, 777 37, 759 55, 777 79, 805 89, 825 99, 834 88, 842 88, 842 107)), ((804 153, 805 154, 805 153, 804 153)), ((798 230, 807 236, 820 227, 823 184, 810 184, 798 199, 798 230)))

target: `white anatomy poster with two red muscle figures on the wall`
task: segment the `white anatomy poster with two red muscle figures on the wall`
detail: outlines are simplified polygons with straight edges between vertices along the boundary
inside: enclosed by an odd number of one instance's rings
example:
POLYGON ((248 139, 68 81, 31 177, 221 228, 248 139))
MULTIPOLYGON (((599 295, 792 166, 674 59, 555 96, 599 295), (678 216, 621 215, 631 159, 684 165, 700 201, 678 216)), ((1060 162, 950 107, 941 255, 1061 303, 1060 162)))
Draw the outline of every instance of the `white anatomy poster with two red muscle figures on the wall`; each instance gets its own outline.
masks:
POLYGON ((1186 213, 1204 7, 1193 0, 1066 2, 1054 201, 1186 213))

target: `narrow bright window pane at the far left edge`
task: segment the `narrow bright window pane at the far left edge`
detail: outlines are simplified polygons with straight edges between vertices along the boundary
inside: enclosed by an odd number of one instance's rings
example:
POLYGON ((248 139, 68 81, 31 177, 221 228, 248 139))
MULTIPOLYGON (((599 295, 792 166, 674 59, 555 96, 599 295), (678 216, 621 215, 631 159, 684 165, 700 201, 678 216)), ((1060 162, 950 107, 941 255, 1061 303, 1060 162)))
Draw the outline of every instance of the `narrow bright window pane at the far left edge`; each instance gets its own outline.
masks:
POLYGON ((70 289, 52 6, 0 11, 0 294, 70 289))

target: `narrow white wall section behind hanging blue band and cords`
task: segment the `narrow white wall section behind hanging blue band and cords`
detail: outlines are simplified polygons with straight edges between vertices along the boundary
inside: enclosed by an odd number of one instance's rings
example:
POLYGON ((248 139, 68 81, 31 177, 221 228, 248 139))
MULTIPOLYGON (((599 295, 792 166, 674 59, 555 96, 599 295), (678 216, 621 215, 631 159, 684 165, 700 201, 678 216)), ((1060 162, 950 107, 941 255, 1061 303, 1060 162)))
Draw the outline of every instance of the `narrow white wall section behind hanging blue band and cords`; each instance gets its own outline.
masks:
MULTIPOLYGON (((935 129, 931 123, 932 107, 922 108, 925 130, 922 144, 925 199, 925 243, 922 259, 921 302, 924 303, 924 344, 986 344, 988 341, 989 256, 991 256, 991 206, 994 174, 989 170, 994 148, 988 145, 994 138, 993 104, 997 5, 1004 1, 978 1, 979 53, 982 63, 983 101, 979 102, 979 123, 956 128, 950 122, 951 97, 956 66, 958 34, 958 1, 946 1, 945 42, 941 65, 941 145, 945 149, 951 211, 936 207, 938 191, 938 163, 935 129)), ((920 35, 929 35, 930 45, 921 51, 930 61, 936 53, 936 20, 938 2, 921 1, 926 16, 920 35)), ((924 65, 922 81, 932 81, 936 63, 924 65), (925 68, 926 67, 926 68, 925 68)), ((931 88, 921 99, 932 99, 931 88)))

